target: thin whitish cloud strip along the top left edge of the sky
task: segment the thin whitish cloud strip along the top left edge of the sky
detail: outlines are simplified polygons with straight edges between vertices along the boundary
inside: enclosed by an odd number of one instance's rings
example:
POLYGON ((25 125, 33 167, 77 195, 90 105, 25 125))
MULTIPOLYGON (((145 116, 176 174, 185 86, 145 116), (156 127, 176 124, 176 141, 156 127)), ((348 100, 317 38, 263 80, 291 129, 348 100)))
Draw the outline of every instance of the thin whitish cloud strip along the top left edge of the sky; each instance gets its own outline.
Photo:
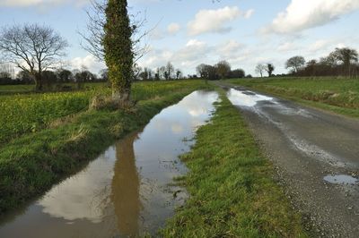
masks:
POLYGON ((74 4, 75 6, 81 6, 88 3, 89 0, 0 0, 0 6, 5 7, 48 7, 59 4, 74 4))

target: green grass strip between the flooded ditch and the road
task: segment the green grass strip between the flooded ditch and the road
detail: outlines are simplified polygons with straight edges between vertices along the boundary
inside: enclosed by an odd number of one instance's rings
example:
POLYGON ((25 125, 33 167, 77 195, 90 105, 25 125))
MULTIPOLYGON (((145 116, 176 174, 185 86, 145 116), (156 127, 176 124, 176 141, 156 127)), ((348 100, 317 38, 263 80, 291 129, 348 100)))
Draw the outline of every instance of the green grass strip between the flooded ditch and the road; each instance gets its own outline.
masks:
POLYGON ((306 237, 301 216, 275 183, 239 111, 222 92, 211 123, 182 157, 190 198, 162 230, 165 237, 306 237))

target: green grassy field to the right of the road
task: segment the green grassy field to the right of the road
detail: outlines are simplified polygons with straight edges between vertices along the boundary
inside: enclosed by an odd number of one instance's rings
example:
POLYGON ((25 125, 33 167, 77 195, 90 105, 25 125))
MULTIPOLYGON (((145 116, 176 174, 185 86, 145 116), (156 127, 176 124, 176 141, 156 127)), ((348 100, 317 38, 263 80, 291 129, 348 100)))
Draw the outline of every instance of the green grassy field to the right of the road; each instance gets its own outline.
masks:
POLYGON ((359 117, 359 79, 274 78, 229 82, 335 113, 359 117))

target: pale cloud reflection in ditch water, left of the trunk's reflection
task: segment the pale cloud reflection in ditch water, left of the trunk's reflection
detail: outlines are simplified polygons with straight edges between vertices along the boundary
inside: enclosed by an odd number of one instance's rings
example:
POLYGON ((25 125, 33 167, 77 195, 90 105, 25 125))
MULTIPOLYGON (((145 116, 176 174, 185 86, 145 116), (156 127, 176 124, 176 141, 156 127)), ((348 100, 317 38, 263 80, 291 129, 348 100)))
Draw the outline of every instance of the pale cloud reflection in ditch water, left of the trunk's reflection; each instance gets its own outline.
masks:
POLYGON ((88 219, 93 223, 101 222, 103 208, 109 202, 110 189, 106 185, 113 177, 115 161, 111 160, 108 157, 94 160, 87 169, 48 191, 39 200, 43 212, 69 221, 88 219))

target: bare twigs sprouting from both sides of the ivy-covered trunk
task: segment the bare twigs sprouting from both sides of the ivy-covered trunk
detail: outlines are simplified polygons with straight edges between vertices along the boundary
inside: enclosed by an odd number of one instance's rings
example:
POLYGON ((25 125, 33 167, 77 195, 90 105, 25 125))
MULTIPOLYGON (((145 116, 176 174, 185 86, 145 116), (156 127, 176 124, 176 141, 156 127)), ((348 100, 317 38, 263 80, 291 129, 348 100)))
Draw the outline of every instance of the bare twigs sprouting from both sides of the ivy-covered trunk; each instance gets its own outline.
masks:
MULTIPOLYGON (((81 47, 95 56, 99 61, 104 61, 103 39, 105 37, 104 26, 106 24, 106 7, 108 0, 91 0, 90 8, 86 11, 88 22, 87 32, 78 31, 83 38, 81 47)), ((132 51, 134 52, 134 62, 145 55, 148 46, 143 42, 144 38, 151 30, 141 30, 146 23, 145 17, 139 17, 140 13, 129 14, 132 30, 132 51)))

